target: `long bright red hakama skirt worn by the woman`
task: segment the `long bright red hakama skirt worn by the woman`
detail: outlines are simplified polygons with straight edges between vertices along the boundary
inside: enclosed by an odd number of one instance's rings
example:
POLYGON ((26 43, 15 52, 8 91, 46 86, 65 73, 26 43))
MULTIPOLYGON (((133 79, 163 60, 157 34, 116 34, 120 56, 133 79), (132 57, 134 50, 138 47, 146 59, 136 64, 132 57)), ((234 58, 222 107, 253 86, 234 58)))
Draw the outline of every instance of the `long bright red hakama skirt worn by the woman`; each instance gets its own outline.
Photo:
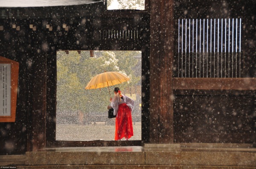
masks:
POLYGON ((131 136, 133 136, 131 109, 127 104, 122 103, 118 105, 116 115, 115 140, 121 140, 123 137, 131 138, 131 136))

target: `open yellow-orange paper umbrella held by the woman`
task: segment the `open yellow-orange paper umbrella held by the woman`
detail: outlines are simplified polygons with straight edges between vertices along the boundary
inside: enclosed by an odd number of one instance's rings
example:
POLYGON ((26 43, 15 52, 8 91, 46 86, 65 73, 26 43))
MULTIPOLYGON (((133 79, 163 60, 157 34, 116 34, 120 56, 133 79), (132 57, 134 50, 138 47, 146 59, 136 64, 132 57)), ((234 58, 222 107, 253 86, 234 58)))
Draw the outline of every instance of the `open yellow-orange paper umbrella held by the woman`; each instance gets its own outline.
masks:
POLYGON ((109 86, 114 86, 116 84, 127 82, 128 80, 131 80, 131 79, 122 73, 104 72, 94 76, 90 80, 90 82, 87 84, 85 89, 98 89, 98 88, 108 87, 108 91, 110 95, 109 86))

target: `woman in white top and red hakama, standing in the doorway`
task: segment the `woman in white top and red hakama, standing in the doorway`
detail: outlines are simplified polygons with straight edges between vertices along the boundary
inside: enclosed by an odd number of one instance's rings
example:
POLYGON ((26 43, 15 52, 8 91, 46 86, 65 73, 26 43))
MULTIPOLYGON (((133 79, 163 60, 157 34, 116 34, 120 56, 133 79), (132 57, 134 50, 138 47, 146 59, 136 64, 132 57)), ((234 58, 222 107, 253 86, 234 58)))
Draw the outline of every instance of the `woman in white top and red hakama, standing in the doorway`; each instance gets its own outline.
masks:
POLYGON ((134 100, 122 95, 118 87, 114 89, 114 93, 115 96, 110 101, 111 107, 114 109, 114 115, 116 115, 115 140, 121 140, 123 137, 128 140, 134 135, 131 118, 134 100))

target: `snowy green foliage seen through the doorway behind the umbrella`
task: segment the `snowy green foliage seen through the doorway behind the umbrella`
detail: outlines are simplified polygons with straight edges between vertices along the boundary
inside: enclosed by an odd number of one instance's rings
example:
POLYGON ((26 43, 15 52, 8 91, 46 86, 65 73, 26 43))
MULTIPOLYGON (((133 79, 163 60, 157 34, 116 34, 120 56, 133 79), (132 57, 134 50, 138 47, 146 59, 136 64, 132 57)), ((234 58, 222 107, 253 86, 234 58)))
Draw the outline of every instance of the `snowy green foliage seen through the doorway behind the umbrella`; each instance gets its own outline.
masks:
MULTIPOLYGON (((107 112, 109 105, 108 88, 86 90, 85 86, 97 74, 116 71, 131 78, 128 83, 118 86, 120 89, 132 87, 140 82, 141 77, 134 74, 138 63, 137 51, 95 51, 90 57, 89 51, 63 51, 57 53, 57 111, 58 112, 107 112)), ((113 88, 110 86, 111 97, 113 88)))

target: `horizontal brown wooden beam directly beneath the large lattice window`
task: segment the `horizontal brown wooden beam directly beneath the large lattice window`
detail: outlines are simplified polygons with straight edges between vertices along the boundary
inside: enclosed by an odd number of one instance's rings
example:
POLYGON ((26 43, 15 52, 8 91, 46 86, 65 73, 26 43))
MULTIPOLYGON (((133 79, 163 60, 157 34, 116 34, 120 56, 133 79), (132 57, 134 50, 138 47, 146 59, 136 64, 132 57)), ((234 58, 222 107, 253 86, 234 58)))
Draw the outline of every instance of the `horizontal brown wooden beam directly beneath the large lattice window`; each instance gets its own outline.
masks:
POLYGON ((256 78, 173 78, 173 89, 255 90, 256 78))

